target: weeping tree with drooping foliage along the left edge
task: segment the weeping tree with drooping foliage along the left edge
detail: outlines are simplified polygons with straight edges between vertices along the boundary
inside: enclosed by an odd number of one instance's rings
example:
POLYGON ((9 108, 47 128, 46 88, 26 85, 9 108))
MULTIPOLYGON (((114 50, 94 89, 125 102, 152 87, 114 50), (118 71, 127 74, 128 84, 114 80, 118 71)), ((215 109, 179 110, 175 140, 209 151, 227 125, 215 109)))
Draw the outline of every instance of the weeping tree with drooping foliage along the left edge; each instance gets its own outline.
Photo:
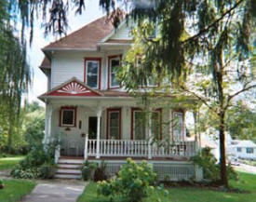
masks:
POLYGON ((30 68, 26 62, 26 46, 15 36, 6 0, 0 5, 0 109, 1 128, 8 134, 8 151, 13 134, 19 126, 21 95, 30 83, 30 68))

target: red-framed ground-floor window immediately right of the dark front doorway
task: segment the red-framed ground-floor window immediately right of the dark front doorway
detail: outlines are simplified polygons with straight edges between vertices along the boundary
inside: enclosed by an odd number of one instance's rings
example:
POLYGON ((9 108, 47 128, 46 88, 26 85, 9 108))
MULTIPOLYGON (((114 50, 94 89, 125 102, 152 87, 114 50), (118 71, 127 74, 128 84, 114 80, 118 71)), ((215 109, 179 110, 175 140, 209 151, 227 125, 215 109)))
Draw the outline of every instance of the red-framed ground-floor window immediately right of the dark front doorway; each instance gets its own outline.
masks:
POLYGON ((108 109, 107 122, 107 138, 121 139, 121 109, 108 109))

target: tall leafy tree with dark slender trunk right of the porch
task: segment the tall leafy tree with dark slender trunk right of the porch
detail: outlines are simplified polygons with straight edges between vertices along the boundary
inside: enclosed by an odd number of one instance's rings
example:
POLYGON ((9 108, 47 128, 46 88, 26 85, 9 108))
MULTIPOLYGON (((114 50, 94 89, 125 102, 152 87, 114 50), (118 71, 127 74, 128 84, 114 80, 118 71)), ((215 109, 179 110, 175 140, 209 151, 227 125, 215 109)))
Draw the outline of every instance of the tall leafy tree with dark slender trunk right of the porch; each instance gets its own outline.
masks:
POLYGON ((148 77, 155 77, 159 88, 169 92, 172 87, 178 93, 193 96, 216 115, 220 133, 221 183, 228 187, 224 145, 226 113, 237 96, 256 88, 255 65, 250 62, 254 47, 249 37, 253 6, 251 1, 202 1, 195 8, 196 14, 192 12, 194 15, 184 12, 183 6, 185 3, 179 1, 172 7, 160 7, 163 16, 158 16, 159 34, 153 39, 150 36, 154 23, 150 17, 139 20, 139 29, 134 32, 135 45, 128 53, 120 77, 124 86, 132 90, 147 85, 148 77), (176 22, 169 20, 171 14, 169 17, 165 13, 168 9, 174 14, 174 7, 175 16, 181 17, 176 22), (184 29, 184 22, 180 21, 189 14, 195 19, 190 19, 194 28, 189 28, 198 31, 197 34, 187 34, 189 29, 184 29), (176 28, 177 24, 182 26, 180 30, 179 26, 176 28), (136 54, 142 55, 139 67, 134 65, 136 54))

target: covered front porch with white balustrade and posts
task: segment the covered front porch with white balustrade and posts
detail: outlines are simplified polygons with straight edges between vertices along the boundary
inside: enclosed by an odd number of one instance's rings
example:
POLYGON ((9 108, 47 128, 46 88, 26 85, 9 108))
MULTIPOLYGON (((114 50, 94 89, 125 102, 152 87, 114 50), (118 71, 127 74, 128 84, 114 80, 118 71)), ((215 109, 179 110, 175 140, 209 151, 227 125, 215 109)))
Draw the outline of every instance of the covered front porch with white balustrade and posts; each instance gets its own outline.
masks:
MULTIPOLYGON (((187 160, 195 155, 195 141, 185 136, 184 113, 174 109, 151 110, 146 124, 135 101, 54 100, 47 104, 45 142, 60 139, 56 161, 62 156, 84 159, 162 159, 187 160), (70 103, 70 101, 68 101, 70 103), (169 120, 180 115, 180 128, 169 120), (159 123, 156 126, 155 123, 159 123), (168 124, 165 124, 168 123, 168 124), (57 135, 56 135, 57 134, 57 135)), ((179 124, 178 123, 178 124, 179 124)))

